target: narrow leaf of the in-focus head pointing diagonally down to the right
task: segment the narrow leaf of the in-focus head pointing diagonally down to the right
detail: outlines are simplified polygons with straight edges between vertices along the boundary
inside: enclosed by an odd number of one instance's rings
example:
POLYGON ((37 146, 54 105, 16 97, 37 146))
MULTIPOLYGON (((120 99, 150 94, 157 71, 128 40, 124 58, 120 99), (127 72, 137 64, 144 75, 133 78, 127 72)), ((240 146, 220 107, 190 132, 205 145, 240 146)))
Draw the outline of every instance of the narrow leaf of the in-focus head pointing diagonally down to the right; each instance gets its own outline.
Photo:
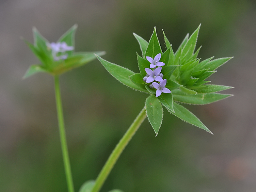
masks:
POLYGON ((184 106, 174 102, 173 108, 175 113, 172 111, 169 111, 169 112, 171 112, 176 117, 213 134, 193 113, 187 110, 184 106))

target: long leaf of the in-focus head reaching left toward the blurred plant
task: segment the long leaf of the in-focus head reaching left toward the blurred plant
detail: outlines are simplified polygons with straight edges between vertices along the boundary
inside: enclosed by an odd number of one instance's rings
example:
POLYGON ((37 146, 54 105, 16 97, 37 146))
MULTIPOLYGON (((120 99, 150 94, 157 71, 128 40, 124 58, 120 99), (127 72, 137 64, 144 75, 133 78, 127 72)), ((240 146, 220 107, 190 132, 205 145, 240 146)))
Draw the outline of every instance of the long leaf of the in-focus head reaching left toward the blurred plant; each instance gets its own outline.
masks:
POLYGON ((106 61, 105 59, 101 58, 100 56, 97 56, 97 58, 99 59, 99 61, 102 63, 102 65, 105 67, 105 69, 113 76, 115 77, 118 81, 120 81, 121 83, 123 83, 124 85, 139 90, 139 91, 143 91, 146 92, 145 89, 135 85, 132 80, 129 78, 129 76, 135 74, 135 72, 132 72, 129 69, 126 69, 124 67, 121 67, 119 65, 116 65, 114 63, 110 63, 108 61, 106 61))

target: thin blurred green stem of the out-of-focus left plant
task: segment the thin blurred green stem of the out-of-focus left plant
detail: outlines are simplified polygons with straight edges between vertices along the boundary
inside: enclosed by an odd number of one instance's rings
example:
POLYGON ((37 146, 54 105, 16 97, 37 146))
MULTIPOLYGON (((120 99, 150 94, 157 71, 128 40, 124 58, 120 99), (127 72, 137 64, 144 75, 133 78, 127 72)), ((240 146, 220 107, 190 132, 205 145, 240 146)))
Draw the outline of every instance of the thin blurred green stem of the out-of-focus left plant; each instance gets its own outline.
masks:
POLYGON ((62 110, 62 104, 61 104, 59 76, 56 75, 54 77, 54 82, 55 82, 56 107, 57 107, 57 115, 58 115, 58 122, 59 122, 59 135, 60 135, 60 142, 61 142, 66 179, 67 179, 69 192, 74 192, 72 173, 71 173, 70 162, 69 162, 69 152, 68 152, 68 146, 66 141, 63 110, 62 110))

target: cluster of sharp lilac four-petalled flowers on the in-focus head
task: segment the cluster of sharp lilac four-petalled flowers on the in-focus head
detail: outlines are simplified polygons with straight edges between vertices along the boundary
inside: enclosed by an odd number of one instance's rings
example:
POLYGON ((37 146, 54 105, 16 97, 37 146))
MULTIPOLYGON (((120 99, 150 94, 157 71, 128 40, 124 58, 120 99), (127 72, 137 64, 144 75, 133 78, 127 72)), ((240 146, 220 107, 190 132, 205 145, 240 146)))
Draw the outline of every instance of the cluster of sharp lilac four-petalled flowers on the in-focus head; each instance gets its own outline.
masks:
POLYGON ((161 53, 157 54, 154 59, 152 57, 146 56, 146 59, 150 62, 150 68, 145 68, 146 73, 148 73, 145 77, 143 77, 143 81, 146 83, 152 83, 149 85, 150 88, 156 89, 156 97, 160 96, 163 93, 170 93, 171 91, 166 86, 166 79, 163 79, 164 75, 161 73, 162 67, 165 63, 159 61, 161 58, 161 53), (157 67, 157 68, 156 68, 157 67), (156 83, 153 81, 157 81, 160 83, 156 83))

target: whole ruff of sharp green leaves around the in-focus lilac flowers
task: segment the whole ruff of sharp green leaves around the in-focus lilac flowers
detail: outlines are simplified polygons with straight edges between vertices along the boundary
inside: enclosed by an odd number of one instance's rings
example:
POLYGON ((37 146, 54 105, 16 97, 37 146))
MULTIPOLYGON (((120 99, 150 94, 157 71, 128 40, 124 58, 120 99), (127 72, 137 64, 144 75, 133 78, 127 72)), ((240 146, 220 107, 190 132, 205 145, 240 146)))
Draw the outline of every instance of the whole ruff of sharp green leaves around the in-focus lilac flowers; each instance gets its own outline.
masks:
POLYGON ((232 57, 215 60, 212 60, 213 57, 211 57, 200 62, 197 56, 201 47, 195 51, 199 29, 200 25, 190 37, 187 34, 175 53, 164 31, 165 52, 161 49, 155 27, 149 42, 134 33, 142 52, 142 56, 137 54, 140 73, 132 72, 97 56, 106 70, 121 83, 150 94, 146 99, 146 112, 156 136, 162 124, 162 105, 176 117, 212 133, 194 114, 178 103, 209 104, 232 96, 216 93, 232 87, 205 84, 210 82, 205 81, 206 78, 215 73, 218 67, 232 57), (156 89, 150 88, 149 83, 143 81, 143 77, 147 75, 145 68, 150 67, 150 62, 146 56, 154 58, 159 53, 161 54, 160 61, 165 63, 161 71, 164 75, 163 79, 167 79, 165 87, 171 90, 171 93, 162 93, 156 97, 156 89))

